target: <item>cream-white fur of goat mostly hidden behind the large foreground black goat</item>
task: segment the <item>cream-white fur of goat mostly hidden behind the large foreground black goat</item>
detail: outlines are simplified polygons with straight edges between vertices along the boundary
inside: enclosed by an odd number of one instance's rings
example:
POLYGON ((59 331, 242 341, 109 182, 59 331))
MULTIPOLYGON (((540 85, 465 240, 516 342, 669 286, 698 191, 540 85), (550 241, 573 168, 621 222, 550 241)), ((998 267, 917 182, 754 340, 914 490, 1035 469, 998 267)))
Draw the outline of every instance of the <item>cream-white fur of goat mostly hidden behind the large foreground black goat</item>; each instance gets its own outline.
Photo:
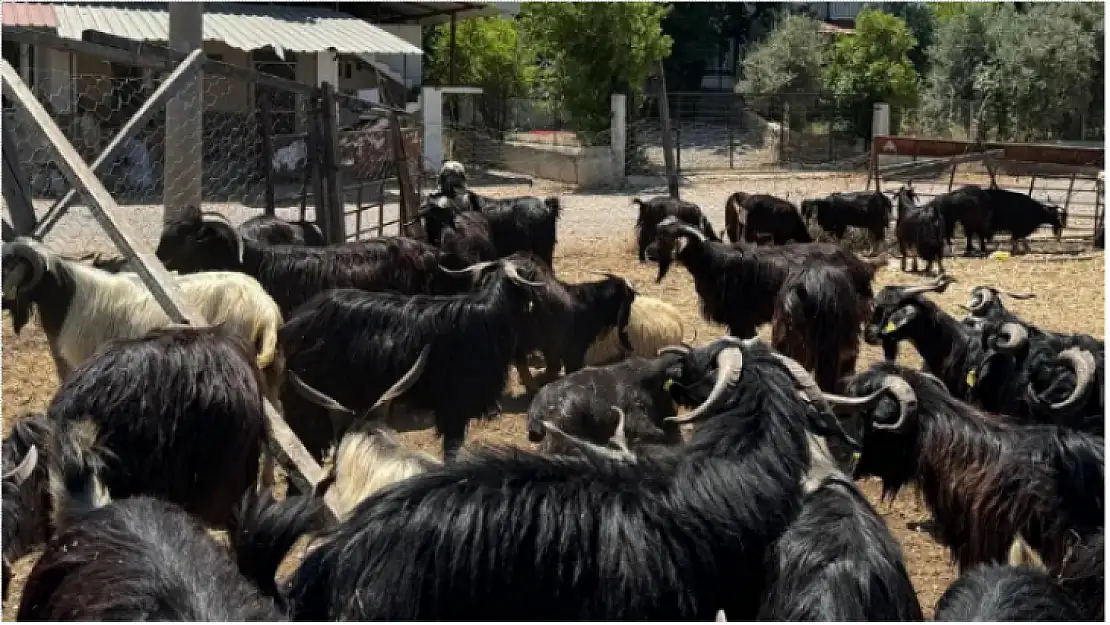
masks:
POLYGON ((405 448, 392 430, 366 424, 340 441, 330 475, 334 482, 324 502, 342 521, 370 495, 441 464, 424 452, 405 448))

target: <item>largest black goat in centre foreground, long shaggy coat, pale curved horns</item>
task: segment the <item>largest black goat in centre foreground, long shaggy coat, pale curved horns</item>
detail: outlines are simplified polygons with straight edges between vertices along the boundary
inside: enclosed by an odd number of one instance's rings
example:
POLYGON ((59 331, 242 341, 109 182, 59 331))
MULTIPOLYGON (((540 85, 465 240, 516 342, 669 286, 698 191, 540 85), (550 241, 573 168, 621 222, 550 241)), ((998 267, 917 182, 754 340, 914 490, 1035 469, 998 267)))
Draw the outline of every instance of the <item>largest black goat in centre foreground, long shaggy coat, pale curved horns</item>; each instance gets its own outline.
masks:
POLYGON ((787 366, 758 341, 684 353, 670 392, 698 407, 676 422, 703 423, 665 461, 487 450, 371 495, 302 561, 292 616, 753 618, 810 430, 838 430, 787 366))

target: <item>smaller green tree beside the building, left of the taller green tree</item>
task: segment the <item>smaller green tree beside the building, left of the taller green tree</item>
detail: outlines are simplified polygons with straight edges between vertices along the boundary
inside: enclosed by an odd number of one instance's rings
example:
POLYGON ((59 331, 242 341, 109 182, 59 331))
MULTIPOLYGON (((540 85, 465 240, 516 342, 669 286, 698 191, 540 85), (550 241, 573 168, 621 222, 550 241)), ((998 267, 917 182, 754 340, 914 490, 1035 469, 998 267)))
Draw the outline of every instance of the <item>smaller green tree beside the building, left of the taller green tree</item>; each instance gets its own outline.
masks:
MULTIPOLYGON (((428 84, 451 82, 451 26, 435 27, 425 38, 428 84), (430 39, 430 41, 427 41, 430 39)), ((455 27, 455 84, 481 87, 478 112, 491 128, 506 130, 513 98, 529 94, 535 80, 534 56, 516 23, 505 18, 478 18, 455 27)))

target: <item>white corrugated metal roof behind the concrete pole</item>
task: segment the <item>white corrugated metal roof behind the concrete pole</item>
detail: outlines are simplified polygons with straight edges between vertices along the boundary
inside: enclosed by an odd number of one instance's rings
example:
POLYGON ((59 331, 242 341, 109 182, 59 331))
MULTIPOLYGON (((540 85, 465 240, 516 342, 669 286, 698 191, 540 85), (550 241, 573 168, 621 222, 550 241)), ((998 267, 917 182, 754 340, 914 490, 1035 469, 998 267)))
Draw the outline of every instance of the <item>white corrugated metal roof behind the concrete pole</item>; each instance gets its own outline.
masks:
MULTIPOLYGON (((137 41, 167 41, 170 14, 165 4, 56 3, 58 34, 81 39, 98 30, 137 41)), ((344 54, 422 54, 407 41, 376 26, 331 9, 295 4, 204 3, 204 40, 222 41, 240 50, 268 46, 279 53, 321 52, 334 48, 344 54)))

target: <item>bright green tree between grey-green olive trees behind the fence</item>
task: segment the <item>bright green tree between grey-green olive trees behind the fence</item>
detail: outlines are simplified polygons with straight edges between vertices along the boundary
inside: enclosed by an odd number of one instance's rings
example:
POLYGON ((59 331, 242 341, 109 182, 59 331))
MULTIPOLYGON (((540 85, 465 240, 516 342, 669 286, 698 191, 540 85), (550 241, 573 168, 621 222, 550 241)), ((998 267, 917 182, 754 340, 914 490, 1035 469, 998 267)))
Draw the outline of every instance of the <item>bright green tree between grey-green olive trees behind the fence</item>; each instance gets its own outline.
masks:
POLYGON ((837 38, 825 70, 825 84, 847 107, 858 135, 870 129, 871 108, 888 102, 892 110, 916 103, 918 75, 909 53, 917 40, 901 19, 882 11, 856 16, 856 31, 837 38))

